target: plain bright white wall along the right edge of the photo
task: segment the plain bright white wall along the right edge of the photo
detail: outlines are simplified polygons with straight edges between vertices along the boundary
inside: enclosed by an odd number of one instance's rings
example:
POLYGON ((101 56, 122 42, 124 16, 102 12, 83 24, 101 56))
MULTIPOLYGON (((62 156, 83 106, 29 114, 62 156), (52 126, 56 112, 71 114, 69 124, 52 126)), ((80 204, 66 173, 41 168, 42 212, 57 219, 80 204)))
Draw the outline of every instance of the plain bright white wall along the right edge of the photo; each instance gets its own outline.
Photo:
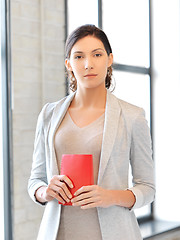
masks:
POLYGON ((180 221, 180 1, 152 5, 155 213, 180 221))

